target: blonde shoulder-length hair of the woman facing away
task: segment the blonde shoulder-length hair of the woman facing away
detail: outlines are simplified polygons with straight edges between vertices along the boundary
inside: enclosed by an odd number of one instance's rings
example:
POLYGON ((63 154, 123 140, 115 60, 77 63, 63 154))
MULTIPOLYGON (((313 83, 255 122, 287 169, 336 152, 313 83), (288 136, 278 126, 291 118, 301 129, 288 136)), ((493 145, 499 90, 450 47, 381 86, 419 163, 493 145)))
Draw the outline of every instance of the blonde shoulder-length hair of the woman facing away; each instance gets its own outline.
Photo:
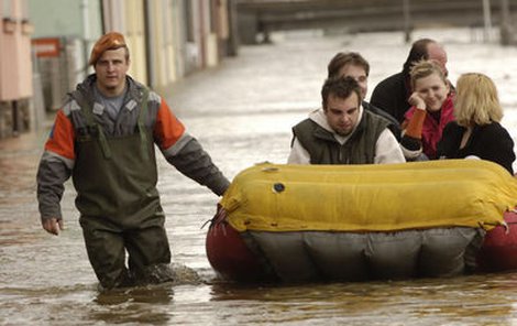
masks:
POLYGON ((503 108, 494 82, 486 75, 468 73, 457 82, 454 117, 458 124, 488 124, 503 119, 503 108))

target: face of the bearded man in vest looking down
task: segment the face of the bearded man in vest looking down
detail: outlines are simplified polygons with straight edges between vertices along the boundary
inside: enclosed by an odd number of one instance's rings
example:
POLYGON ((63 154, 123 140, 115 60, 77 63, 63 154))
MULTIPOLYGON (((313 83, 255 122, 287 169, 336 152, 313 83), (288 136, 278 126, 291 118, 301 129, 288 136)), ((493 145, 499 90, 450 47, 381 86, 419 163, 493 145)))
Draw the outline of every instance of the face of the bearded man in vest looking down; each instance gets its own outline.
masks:
POLYGON ((358 124, 360 99, 355 93, 348 98, 329 95, 324 115, 330 128, 339 135, 349 135, 358 124))

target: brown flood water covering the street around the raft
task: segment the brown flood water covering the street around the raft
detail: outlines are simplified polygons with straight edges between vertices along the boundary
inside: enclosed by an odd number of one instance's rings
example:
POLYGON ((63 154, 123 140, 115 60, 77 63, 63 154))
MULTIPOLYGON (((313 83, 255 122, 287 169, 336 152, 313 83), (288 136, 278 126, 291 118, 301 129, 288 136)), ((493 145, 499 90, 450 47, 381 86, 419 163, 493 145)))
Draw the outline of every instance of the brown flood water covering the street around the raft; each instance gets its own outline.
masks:
MULTIPOLYGON (((461 73, 495 79, 517 135, 517 48, 482 43, 480 32, 418 31, 441 41, 454 82, 461 73)), ((370 89, 402 69, 403 34, 277 35, 241 47, 221 66, 195 74, 164 96, 223 173, 285 163, 290 128, 318 108, 328 61, 359 51, 370 89)), ((41 229, 35 173, 46 130, 0 141, 1 325, 517 325, 517 273, 404 282, 239 285, 221 281, 205 253, 218 202, 161 159, 158 188, 178 274, 174 284, 100 293, 67 183, 61 236, 41 229)))

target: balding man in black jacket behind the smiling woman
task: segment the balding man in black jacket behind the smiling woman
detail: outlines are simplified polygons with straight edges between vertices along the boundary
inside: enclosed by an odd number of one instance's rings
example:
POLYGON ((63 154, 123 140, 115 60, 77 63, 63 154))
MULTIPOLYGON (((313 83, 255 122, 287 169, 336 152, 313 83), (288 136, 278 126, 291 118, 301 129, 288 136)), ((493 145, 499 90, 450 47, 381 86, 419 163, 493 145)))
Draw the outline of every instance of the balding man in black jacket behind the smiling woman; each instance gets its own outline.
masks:
POLYGON ((408 102, 413 94, 409 72, 421 59, 437 63, 447 77, 447 53, 443 47, 433 40, 420 39, 413 43, 403 70, 377 84, 370 98, 370 104, 385 110, 399 123, 403 123, 404 113, 411 107, 408 102))

